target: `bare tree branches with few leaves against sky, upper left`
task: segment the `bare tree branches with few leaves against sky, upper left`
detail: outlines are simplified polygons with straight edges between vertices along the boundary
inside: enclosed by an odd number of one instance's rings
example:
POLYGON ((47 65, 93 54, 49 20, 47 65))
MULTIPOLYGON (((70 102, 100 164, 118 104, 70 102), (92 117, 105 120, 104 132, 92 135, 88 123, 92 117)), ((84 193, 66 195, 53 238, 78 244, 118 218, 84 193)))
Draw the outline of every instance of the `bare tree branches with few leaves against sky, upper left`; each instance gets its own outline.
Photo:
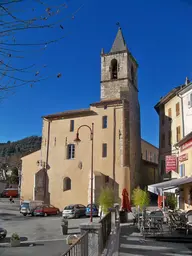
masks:
MULTIPOLYGON (((43 70, 47 64, 38 67, 27 55, 33 52, 38 57, 51 44, 65 38, 64 21, 73 19, 81 9, 65 16, 67 7, 62 0, 0 1, 0 99, 7 97, 14 88, 32 87, 46 79, 43 70), (37 33, 32 38, 34 30, 37 33)), ((61 73, 56 76, 60 78, 61 73)))

